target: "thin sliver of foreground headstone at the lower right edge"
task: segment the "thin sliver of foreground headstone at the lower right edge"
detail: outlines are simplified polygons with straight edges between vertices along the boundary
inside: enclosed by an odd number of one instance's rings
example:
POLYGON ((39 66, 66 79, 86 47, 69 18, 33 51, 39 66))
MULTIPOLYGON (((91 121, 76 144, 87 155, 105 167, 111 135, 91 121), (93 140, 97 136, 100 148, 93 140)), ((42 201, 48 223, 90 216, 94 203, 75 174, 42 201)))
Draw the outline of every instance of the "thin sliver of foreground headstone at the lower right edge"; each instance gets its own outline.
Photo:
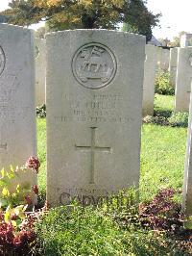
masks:
MULTIPOLYGON (((192 93, 189 108, 189 123, 184 166, 184 182, 182 190, 182 212, 186 217, 192 217, 192 93)), ((187 224, 188 221, 186 221, 187 224)), ((192 228, 192 219, 188 222, 192 228)))

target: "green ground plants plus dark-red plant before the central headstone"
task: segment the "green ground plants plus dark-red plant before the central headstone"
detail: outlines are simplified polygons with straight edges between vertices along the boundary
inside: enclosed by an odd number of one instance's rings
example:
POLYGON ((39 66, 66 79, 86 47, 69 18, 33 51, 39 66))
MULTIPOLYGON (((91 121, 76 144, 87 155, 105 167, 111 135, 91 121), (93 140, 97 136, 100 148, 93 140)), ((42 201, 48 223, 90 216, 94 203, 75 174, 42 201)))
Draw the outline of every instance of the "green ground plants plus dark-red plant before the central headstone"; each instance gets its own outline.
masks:
POLYGON ((120 192, 99 207, 76 202, 61 206, 36 223, 36 248, 42 255, 183 255, 175 243, 182 227, 174 190, 163 190, 139 205, 135 191, 120 192), (119 204, 121 202, 121 204, 119 204), (129 203, 128 203, 129 202, 129 203), (176 231, 175 224, 178 224, 176 231), (174 239, 173 239, 174 238, 174 239))

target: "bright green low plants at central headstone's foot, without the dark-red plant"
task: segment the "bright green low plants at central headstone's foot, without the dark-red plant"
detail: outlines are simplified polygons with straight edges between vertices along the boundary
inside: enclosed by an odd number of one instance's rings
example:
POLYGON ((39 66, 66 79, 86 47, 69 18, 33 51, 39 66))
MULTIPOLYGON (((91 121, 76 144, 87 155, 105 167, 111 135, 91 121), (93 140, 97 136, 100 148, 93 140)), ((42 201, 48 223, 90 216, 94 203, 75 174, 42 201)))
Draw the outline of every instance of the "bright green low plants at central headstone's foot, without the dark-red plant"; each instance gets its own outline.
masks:
MULTIPOLYGON (((138 220, 138 205, 133 207, 133 212, 124 207, 125 204, 118 210, 118 199, 111 202, 109 210, 106 204, 101 208, 83 208, 77 203, 51 210, 36 224, 36 249, 39 252, 42 248, 42 255, 56 256, 155 255, 156 251, 168 252, 162 234, 155 236, 153 231, 134 225, 138 220)), ((131 201, 126 195, 120 200, 131 201)))

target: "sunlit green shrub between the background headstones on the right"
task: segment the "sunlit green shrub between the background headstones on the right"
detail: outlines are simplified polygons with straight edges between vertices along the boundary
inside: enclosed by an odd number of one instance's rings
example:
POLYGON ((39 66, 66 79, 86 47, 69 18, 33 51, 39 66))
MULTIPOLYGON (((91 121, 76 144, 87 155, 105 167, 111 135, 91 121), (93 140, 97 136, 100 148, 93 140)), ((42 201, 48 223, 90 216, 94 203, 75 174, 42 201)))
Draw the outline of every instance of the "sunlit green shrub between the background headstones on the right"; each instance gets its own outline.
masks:
POLYGON ((163 95, 175 94, 175 90, 170 83, 170 73, 168 71, 158 70, 156 73, 155 91, 163 95))

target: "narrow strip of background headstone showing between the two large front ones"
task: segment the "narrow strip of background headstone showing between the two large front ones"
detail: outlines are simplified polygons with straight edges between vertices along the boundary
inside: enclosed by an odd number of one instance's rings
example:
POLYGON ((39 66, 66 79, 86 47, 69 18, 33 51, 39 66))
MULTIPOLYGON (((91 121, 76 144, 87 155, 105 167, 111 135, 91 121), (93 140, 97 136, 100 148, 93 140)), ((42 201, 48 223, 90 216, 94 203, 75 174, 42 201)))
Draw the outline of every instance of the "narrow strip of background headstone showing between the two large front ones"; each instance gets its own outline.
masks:
POLYGON ((45 39, 36 38, 36 106, 45 103, 46 52, 45 39))

